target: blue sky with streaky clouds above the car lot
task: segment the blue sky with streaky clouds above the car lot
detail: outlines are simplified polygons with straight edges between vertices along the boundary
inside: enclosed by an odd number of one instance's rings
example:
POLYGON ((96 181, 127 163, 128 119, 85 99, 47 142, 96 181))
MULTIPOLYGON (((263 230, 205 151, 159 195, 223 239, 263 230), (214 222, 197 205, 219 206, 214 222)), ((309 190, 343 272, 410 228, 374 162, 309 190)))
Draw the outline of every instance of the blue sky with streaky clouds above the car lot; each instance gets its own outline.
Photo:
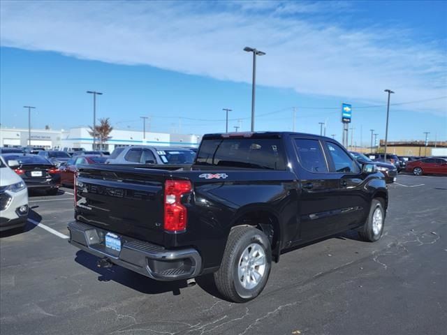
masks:
POLYGON ((341 134, 342 102, 353 105, 354 141, 447 140, 445 1, 25 2, 0 6, 0 122, 91 124, 210 133, 241 120, 249 130, 251 57, 258 58, 256 130, 341 134), (420 101, 418 103, 413 103, 420 101), (376 106, 376 107, 374 107, 376 106))

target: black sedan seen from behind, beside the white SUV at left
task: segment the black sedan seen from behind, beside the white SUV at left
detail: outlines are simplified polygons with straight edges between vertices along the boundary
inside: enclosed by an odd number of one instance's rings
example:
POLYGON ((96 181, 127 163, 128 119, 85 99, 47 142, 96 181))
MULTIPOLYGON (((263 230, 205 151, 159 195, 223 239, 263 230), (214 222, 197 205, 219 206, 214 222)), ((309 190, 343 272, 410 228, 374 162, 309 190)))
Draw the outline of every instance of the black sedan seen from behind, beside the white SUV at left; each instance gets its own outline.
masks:
POLYGON ((59 169, 46 158, 33 154, 4 154, 2 156, 10 168, 22 177, 29 190, 46 191, 49 195, 57 194, 61 184, 61 174, 59 169), (12 165, 10 161, 15 164, 12 165))

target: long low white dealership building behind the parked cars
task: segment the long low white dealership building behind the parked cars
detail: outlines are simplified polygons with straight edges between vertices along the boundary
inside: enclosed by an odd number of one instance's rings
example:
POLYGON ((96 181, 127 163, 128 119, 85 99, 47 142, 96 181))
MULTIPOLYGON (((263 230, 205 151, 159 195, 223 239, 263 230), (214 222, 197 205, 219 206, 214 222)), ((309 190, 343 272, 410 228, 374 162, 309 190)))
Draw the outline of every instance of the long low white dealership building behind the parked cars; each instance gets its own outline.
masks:
MULTIPOLYGON (((51 148, 85 148, 93 149, 93 137, 87 127, 71 128, 60 131, 47 129, 31 129, 29 143, 28 129, 0 128, 0 147, 42 147, 51 148)), ((130 145, 149 145, 157 147, 198 147, 201 136, 194 134, 152 133, 114 129, 109 139, 101 144, 102 149, 112 151, 115 147, 130 145)), ((96 139, 98 144, 98 139, 96 139)))

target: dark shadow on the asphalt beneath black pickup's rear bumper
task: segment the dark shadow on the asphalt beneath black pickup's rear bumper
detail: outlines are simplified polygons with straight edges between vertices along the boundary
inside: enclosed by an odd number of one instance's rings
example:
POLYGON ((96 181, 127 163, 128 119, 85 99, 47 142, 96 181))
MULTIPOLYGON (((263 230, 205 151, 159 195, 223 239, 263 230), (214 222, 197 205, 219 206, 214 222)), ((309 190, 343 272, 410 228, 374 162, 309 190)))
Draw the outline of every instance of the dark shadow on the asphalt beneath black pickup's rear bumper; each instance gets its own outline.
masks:
POLYGON ((125 269, 124 267, 119 267, 113 265, 109 268, 100 268, 96 266, 96 262, 99 260, 98 257, 86 253, 85 251, 78 251, 76 253, 75 262, 87 267, 96 274, 98 274, 98 281, 115 281, 121 285, 125 285, 132 290, 136 290, 147 295, 158 295, 165 292, 173 292, 173 295, 180 295, 181 288, 188 288, 189 285, 186 280, 183 281, 154 281, 151 278, 137 274, 131 270, 125 269))

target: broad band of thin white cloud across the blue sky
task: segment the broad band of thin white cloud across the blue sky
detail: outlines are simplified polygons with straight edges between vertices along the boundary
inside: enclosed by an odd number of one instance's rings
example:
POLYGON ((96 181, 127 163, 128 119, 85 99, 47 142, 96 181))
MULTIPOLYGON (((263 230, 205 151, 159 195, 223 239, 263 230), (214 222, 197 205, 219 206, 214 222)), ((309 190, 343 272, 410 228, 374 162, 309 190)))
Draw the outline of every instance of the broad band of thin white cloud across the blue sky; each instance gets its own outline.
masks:
MULTIPOLYGON (((8 47, 236 82, 251 82, 249 45, 267 52, 259 84, 371 102, 383 102, 385 88, 396 102, 447 95, 445 40, 419 43, 380 25, 346 29, 321 17, 348 5, 322 3, 2 1, 0 37, 8 47)), ((423 107, 447 110, 446 100, 423 107)))

